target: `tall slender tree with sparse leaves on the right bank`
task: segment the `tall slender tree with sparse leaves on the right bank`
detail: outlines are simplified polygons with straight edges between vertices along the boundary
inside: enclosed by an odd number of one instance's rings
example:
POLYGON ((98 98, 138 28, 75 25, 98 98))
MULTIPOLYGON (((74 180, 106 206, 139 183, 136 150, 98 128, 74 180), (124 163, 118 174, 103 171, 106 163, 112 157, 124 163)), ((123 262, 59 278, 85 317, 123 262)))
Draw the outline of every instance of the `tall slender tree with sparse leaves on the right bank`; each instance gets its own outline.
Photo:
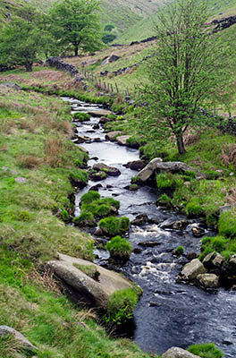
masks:
POLYGON ((183 133, 206 122, 199 107, 210 105, 223 85, 226 50, 209 24, 206 28, 206 1, 177 0, 167 4, 157 19, 156 46, 140 98, 147 104, 150 132, 163 139, 174 137, 183 154, 183 133))

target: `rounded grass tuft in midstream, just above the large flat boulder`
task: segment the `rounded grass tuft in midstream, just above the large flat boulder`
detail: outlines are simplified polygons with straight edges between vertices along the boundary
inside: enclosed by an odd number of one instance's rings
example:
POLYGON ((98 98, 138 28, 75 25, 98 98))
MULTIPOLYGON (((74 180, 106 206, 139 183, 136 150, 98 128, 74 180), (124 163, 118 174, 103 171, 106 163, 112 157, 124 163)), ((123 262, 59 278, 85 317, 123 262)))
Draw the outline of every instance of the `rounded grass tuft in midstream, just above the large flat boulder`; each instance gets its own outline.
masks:
POLYGON ((128 260, 131 256, 131 243, 126 239, 122 239, 119 235, 106 243, 105 249, 110 252, 111 257, 114 259, 128 260))

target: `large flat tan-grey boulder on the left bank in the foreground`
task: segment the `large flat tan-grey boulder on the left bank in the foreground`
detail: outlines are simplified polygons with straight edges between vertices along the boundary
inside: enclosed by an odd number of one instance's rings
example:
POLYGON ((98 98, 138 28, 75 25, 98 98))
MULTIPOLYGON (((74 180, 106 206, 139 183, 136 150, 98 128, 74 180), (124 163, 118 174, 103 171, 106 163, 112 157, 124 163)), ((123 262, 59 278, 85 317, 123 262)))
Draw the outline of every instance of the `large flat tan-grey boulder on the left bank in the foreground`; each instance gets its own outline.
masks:
POLYGON ((97 308, 106 309, 108 297, 117 290, 131 288, 132 284, 114 271, 102 268, 93 262, 76 259, 59 254, 59 260, 49 261, 48 267, 56 277, 61 278, 67 285, 78 292, 85 302, 92 303, 97 308), (99 281, 87 276, 74 264, 94 266, 99 272, 99 281))

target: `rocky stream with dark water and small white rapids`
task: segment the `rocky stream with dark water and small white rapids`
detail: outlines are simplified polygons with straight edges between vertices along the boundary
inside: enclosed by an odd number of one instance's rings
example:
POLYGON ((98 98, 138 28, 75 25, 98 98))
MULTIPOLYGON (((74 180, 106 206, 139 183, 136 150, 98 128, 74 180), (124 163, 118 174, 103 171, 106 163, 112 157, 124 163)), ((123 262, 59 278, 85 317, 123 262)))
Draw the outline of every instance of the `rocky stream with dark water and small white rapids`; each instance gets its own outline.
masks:
MULTIPOLYGON (((69 102, 72 113, 102 109, 99 105, 87 104, 75 98, 62 99, 69 102)), ((132 220, 137 215, 146 213, 152 219, 152 223, 144 226, 131 226, 129 240, 136 253, 131 253, 131 259, 119 268, 143 290, 134 311, 135 342, 143 351, 157 354, 163 354, 171 346, 186 348, 192 344, 213 342, 223 350, 226 358, 236 357, 235 292, 223 288, 205 291, 176 282, 176 276, 188 260, 184 256, 173 257, 173 249, 181 245, 185 254, 198 253, 202 237, 193 236, 191 224, 185 230, 166 227, 170 222, 184 220, 186 217, 156 207, 156 200, 162 192, 145 185, 137 192, 124 189, 137 172, 123 165, 138 160, 139 151, 106 141, 101 125, 99 129, 93 129, 98 122, 99 118, 91 117, 86 123, 76 123, 78 134, 92 139, 91 142, 81 144, 89 150, 89 158, 95 158, 89 160, 88 164, 93 166, 94 163, 101 162, 107 166, 115 166, 122 174, 117 177, 108 176, 101 182, 89 181, 89 185, 76 195, 75 216, 80 215, 80 196, 93 185, 101 183, 101 196, 112 196, 115 200, 120 200, 119 215, 132 220), (155 245, 151 246, 149 242, 155 242, 155 245)), ((205 235, 213 234, 205 229, 205 235)), ((107 265, 108 252, 97 250, 95 253, 95 262, 107 265)))

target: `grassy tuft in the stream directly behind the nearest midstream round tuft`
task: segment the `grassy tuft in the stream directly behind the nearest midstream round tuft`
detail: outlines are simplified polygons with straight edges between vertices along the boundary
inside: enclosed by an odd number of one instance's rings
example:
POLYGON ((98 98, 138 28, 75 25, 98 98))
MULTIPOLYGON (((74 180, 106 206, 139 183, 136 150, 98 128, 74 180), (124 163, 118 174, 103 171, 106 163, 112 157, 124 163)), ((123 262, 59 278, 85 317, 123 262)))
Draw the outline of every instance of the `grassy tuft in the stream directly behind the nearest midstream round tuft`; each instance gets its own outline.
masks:
POLYGON ((105 217, 101 219, 98 226, 107 236, 116 236, 126 233, 130 228, 128 217, 105 217))

